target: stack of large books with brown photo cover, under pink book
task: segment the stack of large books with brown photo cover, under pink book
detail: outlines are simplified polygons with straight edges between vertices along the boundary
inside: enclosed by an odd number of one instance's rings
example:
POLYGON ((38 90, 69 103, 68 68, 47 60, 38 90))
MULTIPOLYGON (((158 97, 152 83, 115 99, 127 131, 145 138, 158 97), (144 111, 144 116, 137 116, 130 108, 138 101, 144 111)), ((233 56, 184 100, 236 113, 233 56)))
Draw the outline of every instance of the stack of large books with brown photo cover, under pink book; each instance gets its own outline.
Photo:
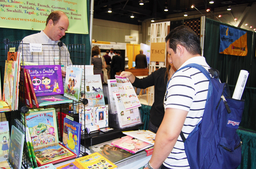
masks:
MULTIPOLYGON (((119 138, 118 138, 119 139, 119 138)), ((136 160, 139 160, 141 158, 147 157, 146 151, 139 151, 134 154, 125 151, 121 148, 118 148, 116 146, 111 145, 113 141, 116 141, 118 139, 114 139, 108 142, 100 143, 97 145, 93 145, 89 147, 89 150, 94 153, 98 152, 105 158, 107 158, 109 161, 117 165, 118 167, 121 167, 123 165, 132 163, 136 160)))

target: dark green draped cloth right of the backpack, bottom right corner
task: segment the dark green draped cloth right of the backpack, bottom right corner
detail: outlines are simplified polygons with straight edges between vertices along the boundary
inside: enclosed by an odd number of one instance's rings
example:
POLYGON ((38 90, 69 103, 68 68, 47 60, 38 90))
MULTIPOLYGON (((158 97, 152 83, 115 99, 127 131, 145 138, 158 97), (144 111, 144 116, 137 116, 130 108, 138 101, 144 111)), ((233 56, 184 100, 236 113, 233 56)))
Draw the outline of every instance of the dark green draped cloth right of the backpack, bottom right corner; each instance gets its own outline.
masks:
POLYGON ((242 141, 242 159, 237 169, 256 168, 256 133, 237 129, 242 141))

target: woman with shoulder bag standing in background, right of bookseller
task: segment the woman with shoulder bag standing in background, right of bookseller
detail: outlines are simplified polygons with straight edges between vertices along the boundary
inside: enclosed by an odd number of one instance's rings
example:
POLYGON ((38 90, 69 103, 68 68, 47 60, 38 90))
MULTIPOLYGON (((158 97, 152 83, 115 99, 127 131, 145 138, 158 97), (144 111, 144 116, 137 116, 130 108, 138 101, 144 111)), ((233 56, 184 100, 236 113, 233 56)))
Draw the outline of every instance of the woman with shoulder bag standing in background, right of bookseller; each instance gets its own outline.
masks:
POLYGON ((102 59, 100 57, 100 48, 98 46, 92 47, 92 63, 91 64, 93 65, 93 74, 100 75, 101 83, 103 83, 104 79, 103 79, 102 68, 103 68, 103 64, 105 64, 105 67, 107 67, 107 64, 104 58, 102 63, 102 59))

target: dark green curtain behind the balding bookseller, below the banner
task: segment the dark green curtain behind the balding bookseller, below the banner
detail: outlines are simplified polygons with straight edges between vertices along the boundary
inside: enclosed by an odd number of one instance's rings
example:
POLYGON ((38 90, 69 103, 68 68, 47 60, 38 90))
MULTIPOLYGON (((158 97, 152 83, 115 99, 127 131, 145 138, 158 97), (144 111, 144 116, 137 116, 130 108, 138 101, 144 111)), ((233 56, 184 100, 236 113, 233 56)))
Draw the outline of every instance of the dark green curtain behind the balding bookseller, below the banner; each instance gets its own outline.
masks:
MULTIPOLYGON (((88 27, 90 27, 90 22, 89 22, 90 21, 90 1, 87 1, 87 20, 88 20, 88 27)), ((18 27, 19 25, 17 24, 17 28, 18 27)), ((42 27, 42 29, 44 29, 44 27, 42 27)), ((0 32, 1 32, 0 41, 3 41, 4 39, 9 39, 12 42, 12 41, 22 40, 25 36, 38 33, 40 31, 0 28, 0 32)), ((90 43, 89 34, 66 33, 66 35, 62 37, 60 40, 65 44, 85 44, 85 59, 83 60, 86 65, 90 64, 91 43, 90 43)), ((2 46, 3 45, 1 45, 0 47, 2 46)), ((0 55, 5 55, 3 54, 3 50, 0 50, 0 55)), ((2 60, 5 61, 5 58, 2 58, 1 61, 2 60)))

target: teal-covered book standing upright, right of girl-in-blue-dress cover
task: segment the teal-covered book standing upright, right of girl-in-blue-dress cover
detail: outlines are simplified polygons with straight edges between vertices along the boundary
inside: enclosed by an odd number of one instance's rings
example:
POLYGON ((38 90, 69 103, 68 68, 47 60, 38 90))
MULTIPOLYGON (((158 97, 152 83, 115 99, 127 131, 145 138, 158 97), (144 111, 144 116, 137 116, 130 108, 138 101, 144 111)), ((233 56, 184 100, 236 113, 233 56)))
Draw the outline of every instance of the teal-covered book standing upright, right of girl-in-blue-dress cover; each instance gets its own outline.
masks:
POLYGON ((21 168, 24 140, 25 134, 12 125, 8 157, 12 168, 21 168))

